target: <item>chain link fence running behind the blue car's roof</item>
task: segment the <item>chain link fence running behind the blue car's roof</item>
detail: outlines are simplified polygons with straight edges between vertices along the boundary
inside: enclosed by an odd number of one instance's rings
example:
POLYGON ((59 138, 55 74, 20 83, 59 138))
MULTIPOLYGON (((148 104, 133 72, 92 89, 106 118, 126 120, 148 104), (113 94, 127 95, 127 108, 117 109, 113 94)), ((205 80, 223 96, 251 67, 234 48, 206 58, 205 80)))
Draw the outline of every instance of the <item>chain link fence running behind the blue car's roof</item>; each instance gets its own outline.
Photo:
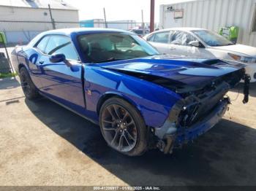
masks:
POLYGON ((0 31, 4 32, 7 44, 27 44, 37 36, 37 34, 52 30, 53 28, 79 28, 79 27, 93 27, 93 28, 117 28, 122 30, 132 30, 137 34, 143 36, 147 34, 148 23, 136 23, 129 20, 124 22, 104 22, 97 20, 97 22, 58 22, 58 21, 12 21, 0 20, 0 31))

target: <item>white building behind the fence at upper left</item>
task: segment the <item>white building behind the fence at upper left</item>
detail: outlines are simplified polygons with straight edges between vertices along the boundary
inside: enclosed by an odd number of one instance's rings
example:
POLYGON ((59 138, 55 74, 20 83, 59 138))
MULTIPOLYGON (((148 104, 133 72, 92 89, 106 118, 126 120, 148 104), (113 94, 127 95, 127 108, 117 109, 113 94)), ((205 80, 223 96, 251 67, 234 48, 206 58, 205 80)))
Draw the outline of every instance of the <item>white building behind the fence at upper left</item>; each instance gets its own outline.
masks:
POLYGON ((36 34, 56 28, 79 26, 78 9, 61 0, 0 0, 0 31, 8 43, 29 42, 36 34))

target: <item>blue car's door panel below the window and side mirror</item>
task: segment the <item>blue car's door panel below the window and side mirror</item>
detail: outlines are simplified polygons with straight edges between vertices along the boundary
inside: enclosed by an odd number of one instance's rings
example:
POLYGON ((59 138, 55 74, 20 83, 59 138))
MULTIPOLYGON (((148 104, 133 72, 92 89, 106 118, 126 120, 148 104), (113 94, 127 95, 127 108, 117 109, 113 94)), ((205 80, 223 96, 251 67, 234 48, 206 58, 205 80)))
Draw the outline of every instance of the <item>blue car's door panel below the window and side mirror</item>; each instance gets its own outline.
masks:
POLYGON ((85 110, 81 80, 82 66, 76 65, 71 69, 65 63, 48 64, 45 61, 40 68, 42 87, 39 90, 82 114, 85 110))

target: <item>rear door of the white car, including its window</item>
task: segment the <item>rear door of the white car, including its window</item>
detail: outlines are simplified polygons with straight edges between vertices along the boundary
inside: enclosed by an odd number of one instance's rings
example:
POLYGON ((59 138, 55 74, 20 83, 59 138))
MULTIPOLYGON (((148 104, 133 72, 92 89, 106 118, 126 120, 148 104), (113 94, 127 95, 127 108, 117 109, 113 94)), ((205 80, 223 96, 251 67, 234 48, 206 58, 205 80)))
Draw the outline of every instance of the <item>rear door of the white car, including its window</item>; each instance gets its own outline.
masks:
POLYGON ((162 54, 170 54, 170 31, 159 31, 148 36, 147 41, 162 54))

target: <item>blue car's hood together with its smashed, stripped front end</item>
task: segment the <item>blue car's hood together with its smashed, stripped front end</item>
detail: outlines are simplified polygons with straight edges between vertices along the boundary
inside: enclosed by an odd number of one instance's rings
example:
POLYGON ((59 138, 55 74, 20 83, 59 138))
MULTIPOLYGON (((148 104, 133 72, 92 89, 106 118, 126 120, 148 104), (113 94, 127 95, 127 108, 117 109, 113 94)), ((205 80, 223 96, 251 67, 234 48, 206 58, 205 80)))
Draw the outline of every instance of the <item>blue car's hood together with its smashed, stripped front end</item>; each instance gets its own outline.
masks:
MULTIPOLYGON (((181 99, 171 106, 162 126, 151 127, 157 147, 171 153, 197 138, 222 119, 230 98, 226 93, 244 80, 244 100, 249 100, 249 76, 241 63, 214 60, 141 58, 128 63, 105 64, 102 66, 120 74, 127 74, 165 87, 181 99)), ((159 91, 160 92, 160 91, 159 91)), ((171 96, 171 95, 170 95, 171 96)))

